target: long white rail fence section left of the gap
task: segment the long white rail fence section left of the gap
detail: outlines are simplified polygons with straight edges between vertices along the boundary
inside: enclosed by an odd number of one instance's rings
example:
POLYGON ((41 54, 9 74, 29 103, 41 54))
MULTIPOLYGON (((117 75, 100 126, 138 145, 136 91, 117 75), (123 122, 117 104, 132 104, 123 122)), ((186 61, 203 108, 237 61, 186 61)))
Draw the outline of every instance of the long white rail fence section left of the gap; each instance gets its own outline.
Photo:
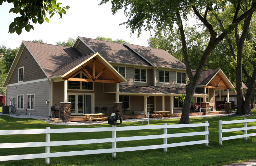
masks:
POLYGON ((156 149, 156 148, 163 148, 164 152, 166 152, 168 147, 178 147, 178 146, 196 145, 196 144, 205 144, 206 146, 208 146, 208 143, 209 143, 208 126, 209 126, 209 123, 205 122, 201 124, 167 125, 167 123, 165 123, 164 125, 127 126, 127 127, 113 126, 113 127, 99 127, 99 128, 96 127, 96 128, 70 128, 70 129, 50 129, 50 127, 46 127, 46 129, 33 129, 33 130, 0 130, 0 135, 17 135, 17 137, 19 134, 45 134, 46 135, 45 142, 1 143, 0 148, 45 147, 45 153, 0 156, 0 161, 45 158, 45 163, 49 164, 50 157, 91 155, 91 154, 102 154, 102 153, 112 153, 112 156, 116 157, 117 152, 147 150, 147 149, 156 149), (205 126, 204 132, 187 132, 187 133, 175 133, 175 134, 167 133, 167 129, 202 127, 202 126, 205 126), (132 136, 132 137, 116 137, 117 131, 149 130, 149 129, 163 129, 163 134, 132 136), (108 131, 112 132, 112 138, 91 139, 91 140, 50 141, 51 133, 108 132, 108 131), (189 141, 189 142, 171 143, 171 144, 167 143, 167 138, 187 137, 187 136, 197 136, 197 135, 205 135, 205 139, 197 140, 197 141, 189 141), (116 142, 119 142, 119 141, 148 140, 148 139, 163 139, 164 143, 161 145, 148 145, 148 146, 138 146, 138 147, 120 147, 120 148, 116 147, 116 142), (81 145, 81 144, 94 144, 94 143, 106 143, 106 142, 112 142, 112 148, 50 153, 51 146, 81 145))

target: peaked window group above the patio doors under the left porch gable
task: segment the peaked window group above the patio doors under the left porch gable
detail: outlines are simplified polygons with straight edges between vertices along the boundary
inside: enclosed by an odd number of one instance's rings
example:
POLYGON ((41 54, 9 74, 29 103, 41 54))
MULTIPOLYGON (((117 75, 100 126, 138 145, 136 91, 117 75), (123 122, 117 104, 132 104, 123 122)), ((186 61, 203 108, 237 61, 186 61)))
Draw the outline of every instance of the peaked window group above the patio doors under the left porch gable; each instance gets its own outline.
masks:
MULTIPOLYGON (((73 78, 88 79, 82 72, 79 72, 73 78)), ((68 89, 93 90, 93 82, 68 81, 68 89)))

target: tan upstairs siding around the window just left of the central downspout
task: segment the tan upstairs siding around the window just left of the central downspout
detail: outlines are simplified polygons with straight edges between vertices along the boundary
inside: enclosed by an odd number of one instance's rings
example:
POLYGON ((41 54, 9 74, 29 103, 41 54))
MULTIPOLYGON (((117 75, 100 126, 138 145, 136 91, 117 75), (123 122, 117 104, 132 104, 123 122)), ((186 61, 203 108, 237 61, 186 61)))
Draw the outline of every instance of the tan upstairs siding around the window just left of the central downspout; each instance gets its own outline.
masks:
POLYGON ((147 82, 134 82, 134 68, 138 69, 144 69, 140 67, 125 67, 125 78, 127 79, 127 82, 121 82, 120 85, 134 85, 134 86, 148 86, 152 83, 151 76, 153 75, 152 69, 147 69, 147 82))

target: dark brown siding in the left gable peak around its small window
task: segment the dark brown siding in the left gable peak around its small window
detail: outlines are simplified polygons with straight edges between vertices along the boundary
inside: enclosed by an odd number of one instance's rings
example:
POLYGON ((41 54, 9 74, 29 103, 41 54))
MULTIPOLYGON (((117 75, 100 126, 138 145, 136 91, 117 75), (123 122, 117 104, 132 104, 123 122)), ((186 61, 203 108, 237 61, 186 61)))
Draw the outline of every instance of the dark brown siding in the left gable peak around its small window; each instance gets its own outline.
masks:
POLYGON ((34 57, 32 57, 28 49, 25 47, 21 53, 17 65, 15 66, 8 84, 18 83, 19 68, 23 66, 23 82, 47 78, 40 66, 37 64, 34 57))

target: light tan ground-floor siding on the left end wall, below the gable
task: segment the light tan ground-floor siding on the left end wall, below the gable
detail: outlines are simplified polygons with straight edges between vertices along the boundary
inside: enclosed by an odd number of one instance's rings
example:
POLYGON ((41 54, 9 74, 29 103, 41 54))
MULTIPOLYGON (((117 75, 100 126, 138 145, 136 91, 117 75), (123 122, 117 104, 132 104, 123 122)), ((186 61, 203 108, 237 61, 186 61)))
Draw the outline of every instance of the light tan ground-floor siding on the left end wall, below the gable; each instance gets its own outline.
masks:
POLYGON ((14 104, 16 108, 16 114, 26 114, 27 109, 27 94, 35 94, 34 108, 35 110, 27 110, 27 114, 48 116, 49 104, 46 104, 46 100, 50 100, 50 84, 48 81, 40 81, 29 84, 7 86, 6 104, 10 104, 10 97, 14 97, 14 104), (16 87, 16 88, 14 88, 16 87), (24 95, 24 109, 17 109, 17 95, 24 95))

